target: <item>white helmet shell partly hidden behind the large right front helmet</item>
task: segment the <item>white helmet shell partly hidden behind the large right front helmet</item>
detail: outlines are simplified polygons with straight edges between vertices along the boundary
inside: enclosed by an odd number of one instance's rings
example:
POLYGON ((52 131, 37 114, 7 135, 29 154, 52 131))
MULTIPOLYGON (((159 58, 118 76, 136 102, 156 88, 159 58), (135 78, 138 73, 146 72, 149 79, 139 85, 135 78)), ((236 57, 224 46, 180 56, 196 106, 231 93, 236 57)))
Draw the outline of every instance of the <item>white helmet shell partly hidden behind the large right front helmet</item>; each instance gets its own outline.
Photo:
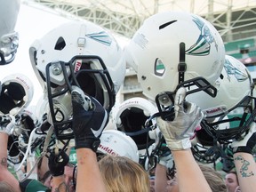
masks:
POLYGON ((241 61, 232 56, 225 56, 224 68, 217 81, 220 87, 215 98, 205 92, 195 92, 186 97, 186 100, 196 103, 208 119, 227 114, 245 96, 252 96, 250 72, 241 61))

